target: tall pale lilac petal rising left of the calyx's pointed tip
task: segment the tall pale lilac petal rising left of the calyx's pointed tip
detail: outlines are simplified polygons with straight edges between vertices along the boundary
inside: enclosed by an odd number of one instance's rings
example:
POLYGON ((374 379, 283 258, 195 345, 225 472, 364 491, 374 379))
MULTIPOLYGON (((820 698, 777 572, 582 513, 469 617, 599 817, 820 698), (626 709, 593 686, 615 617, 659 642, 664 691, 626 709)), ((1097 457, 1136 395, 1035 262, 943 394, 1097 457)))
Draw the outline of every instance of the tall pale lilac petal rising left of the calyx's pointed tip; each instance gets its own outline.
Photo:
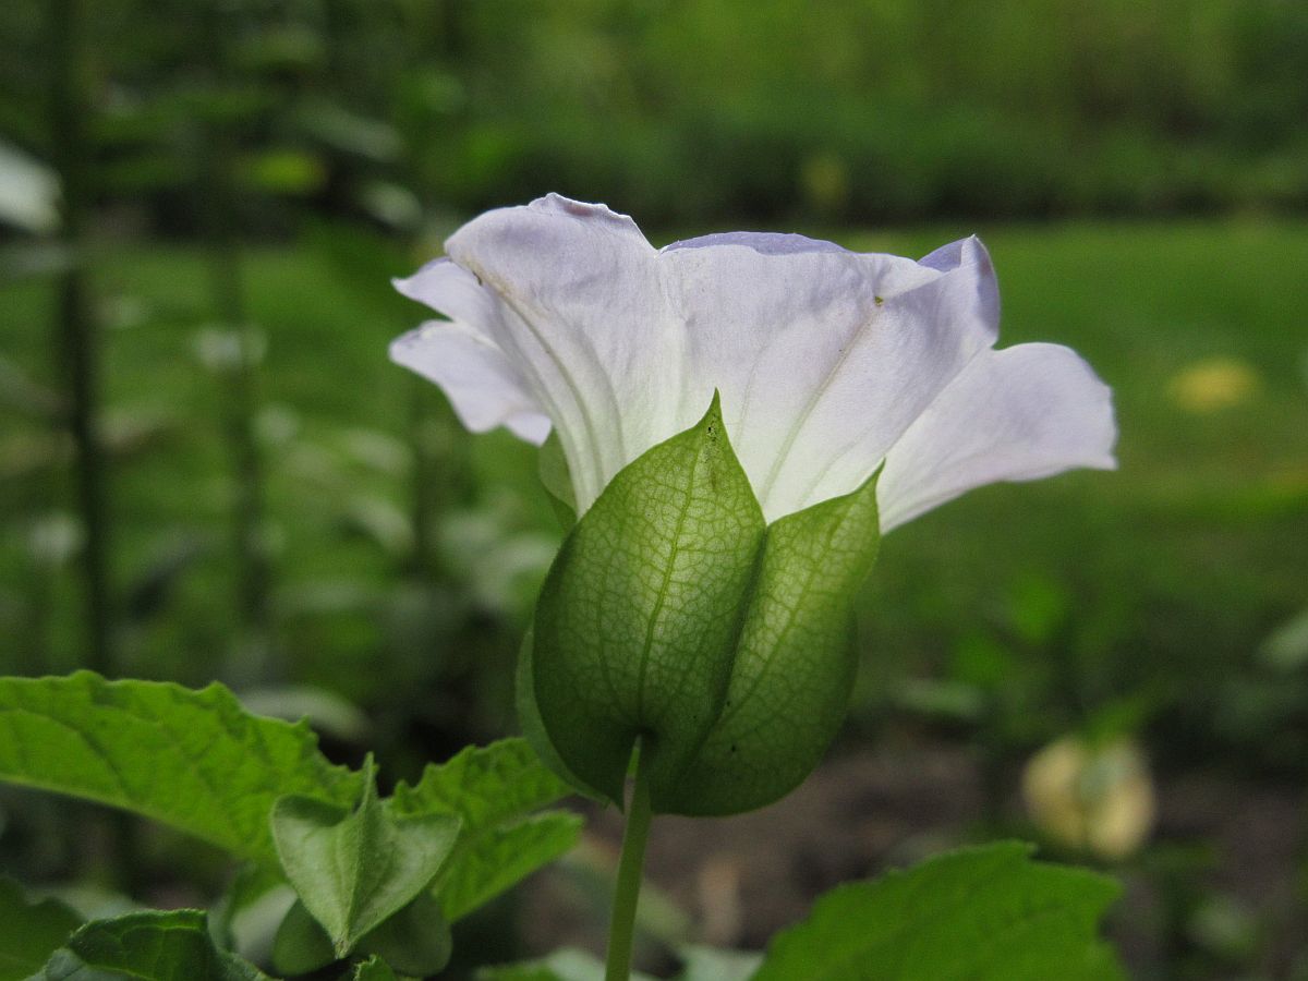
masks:
POLYGON ((678 432, 685 345, 666 315, 657 252, 627 216, 557 195, 488 212, 446 249, 493 297, 485 327, 557 426, 585 510, 678 432))

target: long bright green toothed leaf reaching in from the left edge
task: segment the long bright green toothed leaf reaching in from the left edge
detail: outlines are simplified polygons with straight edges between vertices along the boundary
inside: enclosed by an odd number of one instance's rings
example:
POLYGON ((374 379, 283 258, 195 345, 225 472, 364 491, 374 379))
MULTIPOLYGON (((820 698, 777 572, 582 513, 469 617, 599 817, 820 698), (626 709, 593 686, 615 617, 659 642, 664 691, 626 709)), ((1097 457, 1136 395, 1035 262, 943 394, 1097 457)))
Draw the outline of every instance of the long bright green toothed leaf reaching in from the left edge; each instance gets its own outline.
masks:
POLYGON ((0 679, 0 780, 122 807, 264 863, 284 794, 348 807, 360 777, 307 725, 246 713, 222 685, 0 679))

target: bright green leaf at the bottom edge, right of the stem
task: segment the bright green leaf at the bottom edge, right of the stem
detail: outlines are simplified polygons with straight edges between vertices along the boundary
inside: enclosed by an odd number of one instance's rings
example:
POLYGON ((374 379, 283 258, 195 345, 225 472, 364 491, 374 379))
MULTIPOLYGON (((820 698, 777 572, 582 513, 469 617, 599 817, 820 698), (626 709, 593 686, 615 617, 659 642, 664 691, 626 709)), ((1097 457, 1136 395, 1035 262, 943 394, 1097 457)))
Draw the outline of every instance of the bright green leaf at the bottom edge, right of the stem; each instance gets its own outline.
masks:
POLYGON ((1113 880, 1010 841, 841 886, 774 938, 753 981, 1109 981, 1113 880))

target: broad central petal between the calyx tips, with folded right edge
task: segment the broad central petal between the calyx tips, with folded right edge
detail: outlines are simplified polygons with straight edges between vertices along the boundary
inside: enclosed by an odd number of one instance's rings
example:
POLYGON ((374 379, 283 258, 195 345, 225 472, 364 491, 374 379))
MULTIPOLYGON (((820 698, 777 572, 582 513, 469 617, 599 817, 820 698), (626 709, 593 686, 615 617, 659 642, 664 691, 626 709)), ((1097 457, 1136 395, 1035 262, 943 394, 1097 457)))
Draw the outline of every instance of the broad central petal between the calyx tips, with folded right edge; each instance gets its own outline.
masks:
POLYGON ((989 258, 976 239, 950 249, 916 263, 732 233, 662 252, 689 343, 683 390, 692 403, 722 392, 768 521, 858 487, 994 343, 989 258))

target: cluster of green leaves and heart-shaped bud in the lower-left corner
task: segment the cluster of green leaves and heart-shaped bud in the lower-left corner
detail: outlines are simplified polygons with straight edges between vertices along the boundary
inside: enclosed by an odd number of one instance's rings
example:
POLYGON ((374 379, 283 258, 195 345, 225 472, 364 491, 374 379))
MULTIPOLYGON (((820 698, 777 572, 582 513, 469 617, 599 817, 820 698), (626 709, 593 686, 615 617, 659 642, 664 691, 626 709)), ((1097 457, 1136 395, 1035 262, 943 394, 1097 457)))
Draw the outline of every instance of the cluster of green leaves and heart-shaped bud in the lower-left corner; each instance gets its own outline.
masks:
MULTIPOLYGON (((356 950, 407 974, 434 973, 450 957, 442 906, 472 912, 572 848, 579 831, 572 815, 532 815, 565 787, 521 740, 468 748, 381 800, 371 757, 362 773, 331 766, 305 725, 250 715, 217 684, 190 692, 90 672, 0 679, 0 780, 136 811, 284 875, 300 900, 273 960, 292 973, 356 950)), ((211 935, 229 939, 237 906, 267 884, 238 878, 213 930, 194 912, 95 921, 43 977, 263 977, 211 935)), ((58 904, 26 904, 7 882, 0 910, 0 967, 12 963, 21 977, 80 922, 58 904)))

